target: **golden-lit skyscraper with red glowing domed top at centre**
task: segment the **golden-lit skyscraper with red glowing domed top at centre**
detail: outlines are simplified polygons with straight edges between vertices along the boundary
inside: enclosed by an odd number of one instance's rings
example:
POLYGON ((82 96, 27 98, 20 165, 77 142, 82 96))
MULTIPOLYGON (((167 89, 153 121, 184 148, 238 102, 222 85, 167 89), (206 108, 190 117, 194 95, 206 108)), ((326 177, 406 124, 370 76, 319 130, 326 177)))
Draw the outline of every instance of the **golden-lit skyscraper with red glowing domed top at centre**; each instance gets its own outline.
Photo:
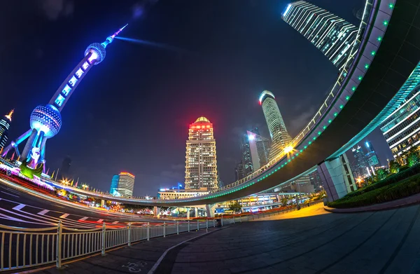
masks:
POLYGON ((186 189, 217 189, 216 140, 205 117, 190 124, 186 142, 186 189))

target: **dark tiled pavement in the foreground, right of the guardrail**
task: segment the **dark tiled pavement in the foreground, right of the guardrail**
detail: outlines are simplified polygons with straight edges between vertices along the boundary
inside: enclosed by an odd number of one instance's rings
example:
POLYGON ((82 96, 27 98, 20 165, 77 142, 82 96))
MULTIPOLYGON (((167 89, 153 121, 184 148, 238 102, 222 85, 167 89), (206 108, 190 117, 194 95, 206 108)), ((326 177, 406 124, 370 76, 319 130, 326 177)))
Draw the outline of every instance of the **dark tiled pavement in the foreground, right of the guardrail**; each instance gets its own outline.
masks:
POLYGON ((420 273, 420 205, 358 214, 321 207, 141 242, 43 273, 148 273, 168 247, 197 235, 155 273, 420 273))

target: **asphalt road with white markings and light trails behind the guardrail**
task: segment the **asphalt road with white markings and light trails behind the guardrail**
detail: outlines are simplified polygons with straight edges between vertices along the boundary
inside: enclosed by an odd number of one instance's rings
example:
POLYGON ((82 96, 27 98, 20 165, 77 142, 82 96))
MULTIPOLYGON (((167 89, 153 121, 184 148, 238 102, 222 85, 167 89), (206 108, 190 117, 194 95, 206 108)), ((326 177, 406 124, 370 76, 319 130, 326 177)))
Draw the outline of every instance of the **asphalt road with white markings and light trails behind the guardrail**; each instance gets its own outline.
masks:
POLYGON ((146 222, 160 223, 153 217, 124 216, 123 214, 102 212, 90 207, 69 206, 64 201, 52 202, 32 196, 29 193, 10 189, 0 183, 0 224, 23 228, 43 228, 56 226, 61 220, 69 228, 99 228, 125 226, 128 222, 144 225, 146 222))

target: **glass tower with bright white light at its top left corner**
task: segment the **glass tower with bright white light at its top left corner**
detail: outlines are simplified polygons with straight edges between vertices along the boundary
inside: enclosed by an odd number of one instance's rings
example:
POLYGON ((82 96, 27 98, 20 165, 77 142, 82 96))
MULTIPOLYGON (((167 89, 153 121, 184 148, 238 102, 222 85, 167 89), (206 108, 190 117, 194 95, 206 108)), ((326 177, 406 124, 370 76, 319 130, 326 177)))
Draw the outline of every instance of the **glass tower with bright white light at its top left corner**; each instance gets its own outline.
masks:
POLYGON ((258 170, 260 167, 268 163, 270 149, 269 139, 251 131, 247 131, 246 135, 248 136, 253 169, 258 170))

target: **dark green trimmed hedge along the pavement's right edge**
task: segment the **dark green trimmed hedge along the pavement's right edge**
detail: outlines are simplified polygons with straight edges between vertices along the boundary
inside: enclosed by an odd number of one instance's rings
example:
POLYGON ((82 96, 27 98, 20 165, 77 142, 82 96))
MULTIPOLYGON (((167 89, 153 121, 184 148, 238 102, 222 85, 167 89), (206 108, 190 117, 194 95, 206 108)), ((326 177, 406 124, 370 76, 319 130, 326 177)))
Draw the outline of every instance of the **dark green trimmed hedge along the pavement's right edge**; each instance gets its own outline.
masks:
POLYGON ((417 193, 420 193, 420 174, 416 174, 402 181, 397 181, 393 184, 382 186, 379 189, 365 192, 358 196, 343 197, 328 203, 328 206, 335 208, 363 207, 405 198, 417 193))

